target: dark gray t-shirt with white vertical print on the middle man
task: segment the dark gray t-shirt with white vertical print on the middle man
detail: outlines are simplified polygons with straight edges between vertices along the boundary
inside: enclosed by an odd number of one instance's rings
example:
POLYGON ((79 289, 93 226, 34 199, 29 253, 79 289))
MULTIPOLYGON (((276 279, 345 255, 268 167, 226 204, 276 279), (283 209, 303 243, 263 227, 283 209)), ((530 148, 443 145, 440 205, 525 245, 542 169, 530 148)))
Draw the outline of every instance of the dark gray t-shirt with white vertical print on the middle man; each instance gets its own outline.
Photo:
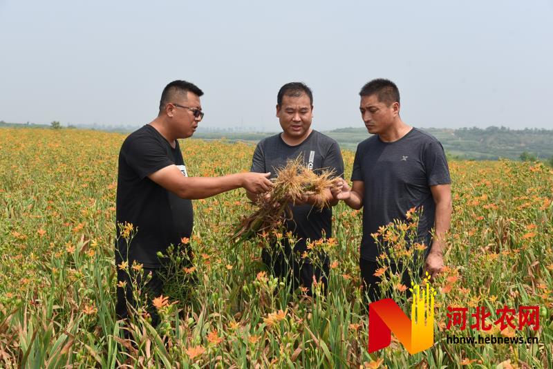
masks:
MULTIPOLYGON (((296 146, 286 144, 280 133, 264 138, 257 144, 252 159, 251 171, 258 173, 271 172, 271 178, 277 176, 277 169, 285 167, 287 160, 300 156, 303 162, 315 173, 323 169, 334 170, 335 176, 344 177, 344 161, 341 158, 338 143, 332 138, 313 130, 308 138, 296 146)), ((332 209, 318 210, 311 205, 292 207, 294 216, 287 222, 288 230, 299 238, 294 250, 306 250, 306 239, 319 240, 323 234, 332 236, 332 209)))

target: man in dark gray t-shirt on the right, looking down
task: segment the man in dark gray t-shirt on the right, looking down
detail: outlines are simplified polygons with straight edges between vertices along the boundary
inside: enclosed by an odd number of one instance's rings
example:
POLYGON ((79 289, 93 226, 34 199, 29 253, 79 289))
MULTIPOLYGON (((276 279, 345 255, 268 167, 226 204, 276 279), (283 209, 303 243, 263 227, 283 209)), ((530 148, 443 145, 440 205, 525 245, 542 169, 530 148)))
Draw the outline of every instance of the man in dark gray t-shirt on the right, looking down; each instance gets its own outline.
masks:
MULTIPOLYGON (((374 135, 357 146, 353 187, 342 181, 332 194, 353 209, 363 207, 359 266, 368 295, 375 301, 379 298, 379 278, 374 276, 377 256, 387 250, 379 249, 371 234, 395 219, 405 221, 413 207, 422 208, 415 242, 428 247, 425 268, 432 276, 440 272, 443 237, 451 221, 451 178, 440 142, 401 120, 400 93, 393 82, 375 79, 359 95, 362 118, 374 135)), ((409 275, 402 279, 409 287, 409 275)))

